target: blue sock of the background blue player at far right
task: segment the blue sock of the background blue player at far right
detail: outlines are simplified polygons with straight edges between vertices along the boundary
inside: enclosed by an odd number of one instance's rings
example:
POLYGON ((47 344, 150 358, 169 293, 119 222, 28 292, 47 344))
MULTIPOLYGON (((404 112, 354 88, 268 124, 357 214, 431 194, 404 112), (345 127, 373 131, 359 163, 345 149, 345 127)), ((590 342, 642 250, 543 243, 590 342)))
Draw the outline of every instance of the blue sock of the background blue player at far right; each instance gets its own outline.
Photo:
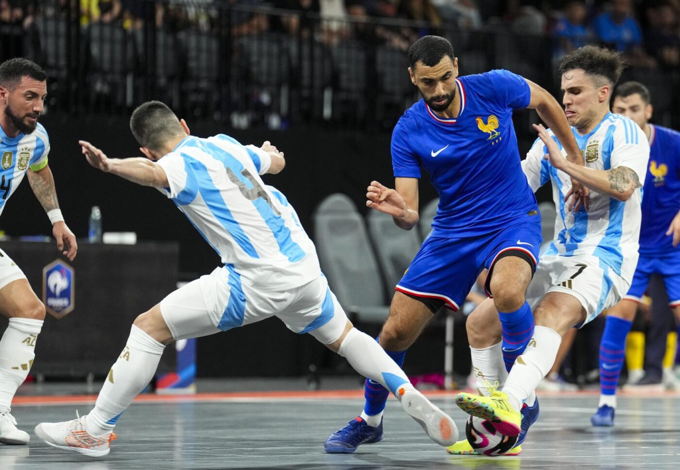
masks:
POLYGON ((616 395, 621 367, 626 358, 626 336, 632 322, 607 316, 605 331, 600 341, 600 393, 616 395))

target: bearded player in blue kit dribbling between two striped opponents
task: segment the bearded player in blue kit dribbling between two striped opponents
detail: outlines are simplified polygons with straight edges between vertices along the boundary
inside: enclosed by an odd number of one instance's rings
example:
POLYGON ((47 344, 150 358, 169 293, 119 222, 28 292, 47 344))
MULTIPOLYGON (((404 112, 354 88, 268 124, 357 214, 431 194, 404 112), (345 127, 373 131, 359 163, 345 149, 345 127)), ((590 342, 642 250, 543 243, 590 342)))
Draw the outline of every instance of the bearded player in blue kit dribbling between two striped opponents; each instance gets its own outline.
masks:
MULTIPOLYGON (((567 158, 582 165, 583 157, 562 108, 540 86, 505 70, 459 78, 452 45, 437 36, 411 45, 409 65, 411 82, 423 99, 405 112, 392 133, 394 189, 372 182, 367 206, 392 215, 402 229, 412 229, 418 222, 423 167, 439 192, 439 207, 432 233, 395 287, 378 341, 401 365, 432 315, 441 307, 457 310, 486 268, 485 288, 500 312, 503 354, 510 367, 533 331, 524 293, 541 245, 540 215, 522 173, 513 110, 536 109, 564 142, 567 158)), ((499 354, 500 349, 499 343, 499 354)), ((328 437, 326 452, 354 452, 362 443, 382 439, 388 393, 367 380, 363 412, 328 437)), ((538 405, 527 412, 535 419, 538 405)))

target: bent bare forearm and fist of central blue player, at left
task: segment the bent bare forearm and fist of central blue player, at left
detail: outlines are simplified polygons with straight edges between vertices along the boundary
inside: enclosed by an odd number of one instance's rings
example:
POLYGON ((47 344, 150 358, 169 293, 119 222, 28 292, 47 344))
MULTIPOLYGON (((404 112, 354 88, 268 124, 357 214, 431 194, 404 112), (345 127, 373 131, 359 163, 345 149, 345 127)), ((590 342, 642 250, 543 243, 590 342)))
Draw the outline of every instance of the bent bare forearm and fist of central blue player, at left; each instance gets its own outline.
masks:
POLYGON ((396 190, 372 181, 366 205, 390 214, 400 229, 411 230, 418 223, 418 179, 396 178, 395 186, 396 190))

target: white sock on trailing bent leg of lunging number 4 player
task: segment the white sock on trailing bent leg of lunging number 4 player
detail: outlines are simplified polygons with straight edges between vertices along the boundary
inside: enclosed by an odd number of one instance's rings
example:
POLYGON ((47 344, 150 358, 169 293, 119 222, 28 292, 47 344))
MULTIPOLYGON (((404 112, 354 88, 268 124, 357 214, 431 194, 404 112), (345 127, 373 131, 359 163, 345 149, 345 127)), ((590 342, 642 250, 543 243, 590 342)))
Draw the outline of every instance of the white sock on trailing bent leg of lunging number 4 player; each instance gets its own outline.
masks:
POLYGON ((109 371, 95 409, 85 418, 90 435, 110 433, 118 417, 154 377, 165 346, 133 325, 125 348, 109 371))

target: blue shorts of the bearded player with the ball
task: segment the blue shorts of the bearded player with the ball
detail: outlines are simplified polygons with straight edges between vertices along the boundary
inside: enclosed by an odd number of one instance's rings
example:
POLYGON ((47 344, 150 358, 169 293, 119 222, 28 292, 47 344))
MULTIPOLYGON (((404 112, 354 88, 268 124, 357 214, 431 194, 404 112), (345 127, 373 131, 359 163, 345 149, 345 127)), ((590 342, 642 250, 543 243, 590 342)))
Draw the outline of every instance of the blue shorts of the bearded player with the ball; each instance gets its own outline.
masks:
MULTIPOLYGON (((412 297, 440 299, 454 311, 465 301, 482 269, 514 253, 533 261, 536 268, 541 246, 541 218, 524 220, 486 237, 428 237, 394 290, 412 297)), ((486 293, 491 297, 487 279, 486 293)))

